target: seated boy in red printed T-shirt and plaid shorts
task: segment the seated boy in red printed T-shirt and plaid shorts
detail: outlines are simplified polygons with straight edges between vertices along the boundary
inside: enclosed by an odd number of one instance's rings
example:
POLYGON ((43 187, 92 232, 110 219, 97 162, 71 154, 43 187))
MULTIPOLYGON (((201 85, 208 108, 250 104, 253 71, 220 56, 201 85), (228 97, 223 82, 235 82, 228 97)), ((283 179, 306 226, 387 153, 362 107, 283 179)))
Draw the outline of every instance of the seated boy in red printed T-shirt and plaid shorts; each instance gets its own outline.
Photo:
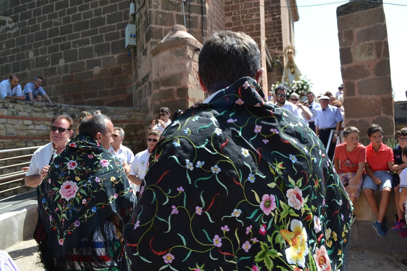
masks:
POLYGON ((335 147, 333 163, 339 180, 344 184, 349 198, 354 204, 359 197, 365 171, 366 148, 359 143, 359 130, 354 126, 344 129, 345 143, 335 147))

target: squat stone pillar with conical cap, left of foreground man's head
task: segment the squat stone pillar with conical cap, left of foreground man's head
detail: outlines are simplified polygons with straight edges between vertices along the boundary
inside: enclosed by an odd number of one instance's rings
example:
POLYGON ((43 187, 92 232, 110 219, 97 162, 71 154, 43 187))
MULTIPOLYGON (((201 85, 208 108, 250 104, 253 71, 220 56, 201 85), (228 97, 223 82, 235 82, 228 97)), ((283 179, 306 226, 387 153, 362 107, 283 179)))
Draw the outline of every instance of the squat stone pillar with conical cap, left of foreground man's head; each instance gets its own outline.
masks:
POLYGON ((198 80, 198 48, 202 44, 186 32, 183 25, 172 30, 151 50, 151 80, 153 95, 148 98, 152 108, 147 120, 157 116, 162 106, 186 110, 204 100, 198 80))

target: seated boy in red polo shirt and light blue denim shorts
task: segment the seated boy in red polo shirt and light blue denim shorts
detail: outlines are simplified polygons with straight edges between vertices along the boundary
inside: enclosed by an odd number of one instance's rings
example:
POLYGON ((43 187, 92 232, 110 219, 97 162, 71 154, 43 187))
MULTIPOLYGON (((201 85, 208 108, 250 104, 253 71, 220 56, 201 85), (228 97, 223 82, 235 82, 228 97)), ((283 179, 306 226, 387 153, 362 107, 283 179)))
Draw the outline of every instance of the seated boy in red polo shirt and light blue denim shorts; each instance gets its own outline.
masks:
POLYGON ((387 219, 384 217, 389 205, 390 194, 392 193, 393 150, 383 144, 383 129, 372 124, 368 128, 370 144, 366 146, 366 176, 363 182, 363 193, 370 208, 376 215, 377 220, 373 223, 373 228, 379 236, 386 236, 387 219), (377 189, 381 191, 380 207, 377 206, 374 193, 377 189))

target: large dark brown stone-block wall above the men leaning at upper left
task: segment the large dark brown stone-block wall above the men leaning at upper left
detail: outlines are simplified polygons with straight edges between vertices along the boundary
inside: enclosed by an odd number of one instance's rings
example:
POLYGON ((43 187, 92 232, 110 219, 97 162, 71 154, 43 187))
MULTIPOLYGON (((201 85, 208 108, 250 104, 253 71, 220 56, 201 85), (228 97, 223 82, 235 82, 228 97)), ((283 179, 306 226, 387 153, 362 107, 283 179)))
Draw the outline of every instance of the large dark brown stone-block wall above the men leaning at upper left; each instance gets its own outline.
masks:
POLYGON ((129 0, 2 0, 0 78, 36 75, 52 100, 133 106, 129 0))

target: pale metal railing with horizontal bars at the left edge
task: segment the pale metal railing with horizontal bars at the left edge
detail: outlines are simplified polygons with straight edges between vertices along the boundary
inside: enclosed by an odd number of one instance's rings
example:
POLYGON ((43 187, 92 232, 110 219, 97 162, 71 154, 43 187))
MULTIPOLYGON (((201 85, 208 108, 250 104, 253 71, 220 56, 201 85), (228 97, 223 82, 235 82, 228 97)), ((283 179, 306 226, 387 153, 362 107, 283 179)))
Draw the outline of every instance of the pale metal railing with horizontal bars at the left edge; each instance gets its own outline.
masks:
MULTIPOLYGON (((41 146, 35 146, 35 147, 24 147, 24 148, 18 148, 18 149, 9 149, 9 150, 0 150, 0 154, 8 154, 8 153, 12 153, 12 152, 23 152, 26 150, 37 150, 39 147, 41 146)), ((25 155, 20 155, 20 156, 13 156, 13 157, 7 157, 7 158, 1 158, 0 162, 5 162, 9 164, 10 160, 15 160, 15 159, 31 159, 31 156, 33 156, 33 154, 25 154, 25 155)), ((11 162, 10 162, 11 163, 11 162)), ((18 204, 21 202, 24 202, 28 199, 24 198, 22 200, 18 199, 19 196, 27 194, 27 193, 31 193, 33 190, 30 191, 25 191, 25 192, 21 192, 18 193, 20 191, 22 191, 23 188, 27 187, 25 184, 21 184, 21 182, 24 180, 24 177, 21 178, 22 176, 26 175, 26 171, 24 170, 20 170, 20 167, 22 166, 28 166, 30 165, 30 161, 28 162, 22 162, 22 163, 16 163, 16 164, 11 164, 11 165, 4 165, 2 167, 0 167, 0 171, 4 170, 4 169, 10 169, 13 167, 18 167, 17 171, 13 171, 10 173, 4 173, 0 175, 0 204, 3 202, 6 202, 12 198, 16 198, 16 202, 13 202, 9 205, 4 205, 2 204, 0 206, 0 210, 13 206, 14 204, 18 204), (2 182, 2 180, 6 180, 4 182, 2 182), (8 187, 6 189, 4 189, 4 185, 8 185, 8 187), (10 185, 12 184, 12 185, 10 185), (13 184, 15 184, 15 186, 13 186, 13 184), (11 192, 11 191, 15 191, 16 193, 11 195, 11 196, 4 196, 2 197, 2 195, 4 195, 4 193, 6 192, 11 192), (4 205, 4 206, 3 206, 4 205)), ((35 199, 36 197, 31 197, 29 199, 35 199)))

